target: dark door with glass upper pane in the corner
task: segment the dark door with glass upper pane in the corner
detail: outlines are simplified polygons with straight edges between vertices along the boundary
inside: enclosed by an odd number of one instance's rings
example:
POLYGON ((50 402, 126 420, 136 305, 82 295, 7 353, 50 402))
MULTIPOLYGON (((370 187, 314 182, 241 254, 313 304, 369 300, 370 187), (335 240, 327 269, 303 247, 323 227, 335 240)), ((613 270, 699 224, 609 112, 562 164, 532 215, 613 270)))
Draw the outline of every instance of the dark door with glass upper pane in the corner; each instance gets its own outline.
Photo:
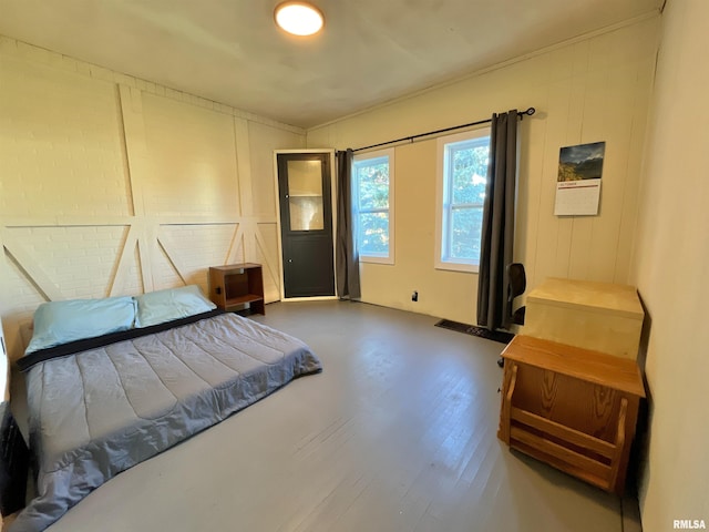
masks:
POLYGON ((335 296, 329 153, 279 153, 284 296, 335 296))

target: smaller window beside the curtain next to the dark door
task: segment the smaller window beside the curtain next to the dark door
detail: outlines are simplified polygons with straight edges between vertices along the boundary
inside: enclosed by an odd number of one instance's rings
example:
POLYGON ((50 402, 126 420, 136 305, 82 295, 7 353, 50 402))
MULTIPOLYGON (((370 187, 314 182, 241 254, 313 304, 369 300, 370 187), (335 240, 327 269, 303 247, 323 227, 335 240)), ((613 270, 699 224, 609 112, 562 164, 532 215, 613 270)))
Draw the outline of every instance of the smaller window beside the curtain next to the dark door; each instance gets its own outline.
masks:
POLYGON ((354 155, 352 188, 360 260, 394 262, 394 151, 354 155))

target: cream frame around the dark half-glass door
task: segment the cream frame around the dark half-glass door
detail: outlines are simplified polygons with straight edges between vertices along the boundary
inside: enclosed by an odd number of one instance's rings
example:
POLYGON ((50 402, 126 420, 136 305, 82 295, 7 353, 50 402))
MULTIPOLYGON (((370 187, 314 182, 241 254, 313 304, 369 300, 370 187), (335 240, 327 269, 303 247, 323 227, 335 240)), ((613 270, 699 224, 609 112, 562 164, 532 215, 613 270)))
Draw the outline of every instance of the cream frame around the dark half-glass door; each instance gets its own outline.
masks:
POLYGON ((298 149, 298 150, 274 150, 274 191, 276 200, 276 234, 278 235, 278 276, 280 280, 280 300, 281 301, 317 301, 326 299, 337 299, 337 178, 335 164, 335 150, 331 147, 298 149), (280 187, 278 186, 278 155, 291 153, 329 153, 330 154, 330 203, 332 204, 332 272, 335 276, 335 295, 333 296, 312 296, 312 297, 286 297, 286 285, 284 279, 284 243, 280 228, 280 187))

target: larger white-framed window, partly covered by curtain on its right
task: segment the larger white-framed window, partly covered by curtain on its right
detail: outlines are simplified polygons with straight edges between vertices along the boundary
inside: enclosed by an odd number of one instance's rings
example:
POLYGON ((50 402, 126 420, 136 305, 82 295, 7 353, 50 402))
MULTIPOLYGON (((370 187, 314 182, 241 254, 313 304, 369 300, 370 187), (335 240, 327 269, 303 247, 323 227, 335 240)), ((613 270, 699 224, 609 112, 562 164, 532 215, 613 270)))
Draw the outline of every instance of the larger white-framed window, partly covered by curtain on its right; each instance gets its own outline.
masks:
POLYGON ((477 272, 490 129, 439 139, 436 268, 477 272))

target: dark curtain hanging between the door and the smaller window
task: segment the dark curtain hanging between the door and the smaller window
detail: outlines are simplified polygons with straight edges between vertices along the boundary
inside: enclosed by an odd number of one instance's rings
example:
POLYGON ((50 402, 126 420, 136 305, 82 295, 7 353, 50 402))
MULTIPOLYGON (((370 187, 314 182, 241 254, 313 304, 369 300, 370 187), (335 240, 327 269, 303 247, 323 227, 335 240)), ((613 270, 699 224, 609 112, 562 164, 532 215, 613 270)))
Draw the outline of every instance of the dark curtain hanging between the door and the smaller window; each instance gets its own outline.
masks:
POLYGON ((352 150, 337 152, 337 293, 340 299, 359 299, 359 253, 352 219, 352 150))

